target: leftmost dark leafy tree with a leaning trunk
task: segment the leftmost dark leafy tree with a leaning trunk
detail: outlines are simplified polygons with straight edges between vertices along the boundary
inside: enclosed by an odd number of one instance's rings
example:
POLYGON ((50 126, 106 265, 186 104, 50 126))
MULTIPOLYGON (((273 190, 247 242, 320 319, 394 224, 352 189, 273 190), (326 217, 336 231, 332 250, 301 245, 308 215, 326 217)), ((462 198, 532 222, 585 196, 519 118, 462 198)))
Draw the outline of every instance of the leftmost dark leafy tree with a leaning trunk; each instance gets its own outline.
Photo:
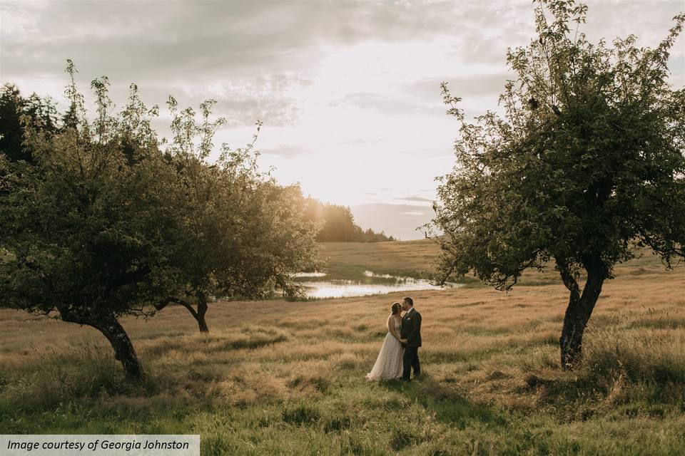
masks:
POLYGON ((176 289, 181 271, 168 261, 177 238, 176 172, 164 160, 135 86, 111 117, 108 81, 99 78, 96 119, 88 121, 73 82, 66 95, 76 128, 49 133, 28 123, 25 143, 35 165, 0 154, 0 269, 3 305, 87 325, 103 333, 126 377, 143 368, 118 318, 149 316, 153 302, 176 289), (122 140, 133 135, 131 165, 122 140))

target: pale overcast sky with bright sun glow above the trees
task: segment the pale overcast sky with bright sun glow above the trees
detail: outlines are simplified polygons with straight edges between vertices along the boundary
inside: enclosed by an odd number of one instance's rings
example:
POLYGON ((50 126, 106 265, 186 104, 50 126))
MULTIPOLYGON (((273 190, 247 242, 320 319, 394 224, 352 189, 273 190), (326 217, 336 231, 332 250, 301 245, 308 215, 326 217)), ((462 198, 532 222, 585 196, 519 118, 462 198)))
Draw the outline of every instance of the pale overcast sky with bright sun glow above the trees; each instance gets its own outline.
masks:
MULTIPOLYGON (((634 33, 656 46, 685 0, 592 0, 591 41, 634 33)), ((534 36, 532 2, 0 1, 0 82, 51 95, 71 58, 87 90, 106 75, 118 106, 136 83, 148 105, 173 95, 217 100, 215 142, 250 142, 260 166, 305 195, 352 208, 363 228, 417 239, 432 217, 435 177, 454 165, 457 123, 440 83, 467 116, 497 109, 507 48, 534 36)), ((685 85, 685 38, 671 53, 685 85)), ((165 135, 162 110, 156 127, 165 135)))

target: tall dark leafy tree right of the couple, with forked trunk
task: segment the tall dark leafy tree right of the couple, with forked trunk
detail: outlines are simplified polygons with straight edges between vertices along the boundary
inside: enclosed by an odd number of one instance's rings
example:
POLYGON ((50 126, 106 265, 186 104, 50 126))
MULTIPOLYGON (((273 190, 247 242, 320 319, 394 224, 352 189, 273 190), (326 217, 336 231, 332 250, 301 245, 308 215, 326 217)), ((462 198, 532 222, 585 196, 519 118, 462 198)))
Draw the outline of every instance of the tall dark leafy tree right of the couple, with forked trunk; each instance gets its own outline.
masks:
POLYGON ((614 266, 642 247, 667 269, 685 255, 685 90, 666 66, 685 15, 659 46, 638 48, 632 35, 589 43, 578 30, 587 6, 573 0, 534 12, 537 37, 507 53, 517 80, 500 95, 503 115, 467 123, 443 83, 460 138, 429 229, 445 235, 443 280, 473 271, 509 290, 554 259, 570 294, 559 344, 572 368, 614 266))

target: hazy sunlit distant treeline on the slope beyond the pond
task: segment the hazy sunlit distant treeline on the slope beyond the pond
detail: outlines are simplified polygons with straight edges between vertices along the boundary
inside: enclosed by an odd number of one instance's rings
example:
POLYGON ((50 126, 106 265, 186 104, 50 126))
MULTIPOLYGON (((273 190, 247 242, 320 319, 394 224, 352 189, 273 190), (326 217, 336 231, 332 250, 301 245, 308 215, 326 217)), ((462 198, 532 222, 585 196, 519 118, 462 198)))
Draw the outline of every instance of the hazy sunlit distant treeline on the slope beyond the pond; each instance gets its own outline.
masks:
POLYGON ((385 242, 395 241, 385 232, 377 233, 372 229, 364 231, 355 224, 354 216, 349 207, 320 202, 318 199, 307 198, 307 213, 305 218, 322 225, 316 240, 318 242, 385 242))

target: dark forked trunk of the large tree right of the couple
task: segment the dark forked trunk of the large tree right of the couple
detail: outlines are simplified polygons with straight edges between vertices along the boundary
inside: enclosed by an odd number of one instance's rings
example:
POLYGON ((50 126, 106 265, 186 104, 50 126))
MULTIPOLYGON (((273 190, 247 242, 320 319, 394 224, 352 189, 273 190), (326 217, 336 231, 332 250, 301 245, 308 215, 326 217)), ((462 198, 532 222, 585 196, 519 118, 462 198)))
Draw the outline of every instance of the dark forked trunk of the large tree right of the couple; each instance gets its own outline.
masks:
POLYGON ((559 338, 562 368, 572 369, 580 361, 583 352, 583 333, 592 316, 599 294, 602 292, 605 275, 598 268, 587 268, 587 281, 582 293, 578 282, 572 276, 564 261, 557 259, 564 285, 571 292, 569 305, 564 314, 562 336, 559 338))

